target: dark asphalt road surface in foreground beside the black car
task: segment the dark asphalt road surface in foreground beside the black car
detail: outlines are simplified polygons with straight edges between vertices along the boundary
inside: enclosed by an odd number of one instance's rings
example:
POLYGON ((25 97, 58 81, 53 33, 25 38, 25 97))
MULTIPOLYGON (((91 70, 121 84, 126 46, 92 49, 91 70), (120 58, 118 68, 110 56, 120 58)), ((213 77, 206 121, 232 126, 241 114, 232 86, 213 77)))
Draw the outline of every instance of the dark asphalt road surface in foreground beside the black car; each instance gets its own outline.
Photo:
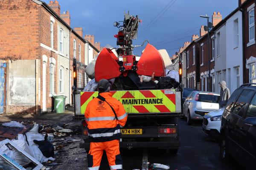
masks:
MULTIPOLYGON (((241 170, 235 160, 225 164, 220 161, 218 142, 208 139, 202 131, 202 122, 186 125, 179 119, 180 148, 176 155, 163 150, 149 149, 148 161, 168 164, 170 170, 241 170)), ((123 169, 141 169, 142 149, 122 150, 123 169)), ((101 170, 108 170, 106 158, 103 158, 101 170)))

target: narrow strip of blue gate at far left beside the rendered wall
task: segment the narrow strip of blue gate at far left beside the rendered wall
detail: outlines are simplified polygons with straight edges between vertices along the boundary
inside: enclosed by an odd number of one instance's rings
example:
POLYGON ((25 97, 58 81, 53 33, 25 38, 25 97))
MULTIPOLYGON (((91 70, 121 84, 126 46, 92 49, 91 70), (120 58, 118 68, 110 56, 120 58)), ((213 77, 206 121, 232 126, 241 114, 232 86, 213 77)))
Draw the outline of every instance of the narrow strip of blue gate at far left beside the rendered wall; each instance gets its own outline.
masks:
POLYGON ((6 113, 6 62, 0 61, 0 114, 6 113))

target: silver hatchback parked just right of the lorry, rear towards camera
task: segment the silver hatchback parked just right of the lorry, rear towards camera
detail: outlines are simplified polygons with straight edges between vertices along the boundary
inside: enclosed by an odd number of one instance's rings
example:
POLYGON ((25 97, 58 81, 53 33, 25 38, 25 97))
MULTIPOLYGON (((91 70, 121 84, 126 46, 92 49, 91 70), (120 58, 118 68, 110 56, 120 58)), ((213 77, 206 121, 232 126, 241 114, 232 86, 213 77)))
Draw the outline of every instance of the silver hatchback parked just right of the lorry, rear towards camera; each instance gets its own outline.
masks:
POLYGON ((183 103, 183 116, 187 124, 193 120, 203 120, 204 115, 219 108, 220 95, 207 91, 192 91, 183 103))

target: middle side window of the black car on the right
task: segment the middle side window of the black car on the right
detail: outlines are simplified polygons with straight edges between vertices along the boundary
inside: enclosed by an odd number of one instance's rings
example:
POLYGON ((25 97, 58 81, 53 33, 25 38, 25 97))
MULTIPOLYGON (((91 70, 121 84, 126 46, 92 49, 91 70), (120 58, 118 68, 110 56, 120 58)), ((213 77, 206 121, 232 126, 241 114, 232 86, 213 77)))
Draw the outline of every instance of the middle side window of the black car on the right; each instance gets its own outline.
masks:
POLYGON ((254 91, 251 91, 251 90, 242 91, 241 95, 236 101, 236 104, 233 107, 232 112, 242 117, 253 95, 254 95, 254 91))

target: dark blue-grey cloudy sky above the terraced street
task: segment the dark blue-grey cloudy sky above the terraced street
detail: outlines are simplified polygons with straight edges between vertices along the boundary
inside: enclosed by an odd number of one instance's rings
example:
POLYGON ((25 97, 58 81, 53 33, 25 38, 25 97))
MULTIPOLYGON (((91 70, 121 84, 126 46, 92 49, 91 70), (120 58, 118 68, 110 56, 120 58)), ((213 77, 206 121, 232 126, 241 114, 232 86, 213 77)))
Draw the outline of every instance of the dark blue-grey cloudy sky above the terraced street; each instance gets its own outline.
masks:
MULTIPOLYGON (((118 28, 113 27, 113 22, 122 21, 124 11, 138 15, 143 22, 139 25, 138 39, 133 44, 140 45, 149 40, 157 49, 166 49, 169 56, 175 54, 185 41, 191 41, 192 34, 199 35, 199 28, 207 23, 200 15, 211 17, 214 11, 219 11, 224 18, 238 6, 238 0, 58 1, 61 13, 70 11, 71 27, 82 27, 83 34, 93 34, 101 46, 110 44, 116 47, 113 35, 117 34, 118 28)), ((134 54, 140 54, 142 50, 137 48, 134 54)))

